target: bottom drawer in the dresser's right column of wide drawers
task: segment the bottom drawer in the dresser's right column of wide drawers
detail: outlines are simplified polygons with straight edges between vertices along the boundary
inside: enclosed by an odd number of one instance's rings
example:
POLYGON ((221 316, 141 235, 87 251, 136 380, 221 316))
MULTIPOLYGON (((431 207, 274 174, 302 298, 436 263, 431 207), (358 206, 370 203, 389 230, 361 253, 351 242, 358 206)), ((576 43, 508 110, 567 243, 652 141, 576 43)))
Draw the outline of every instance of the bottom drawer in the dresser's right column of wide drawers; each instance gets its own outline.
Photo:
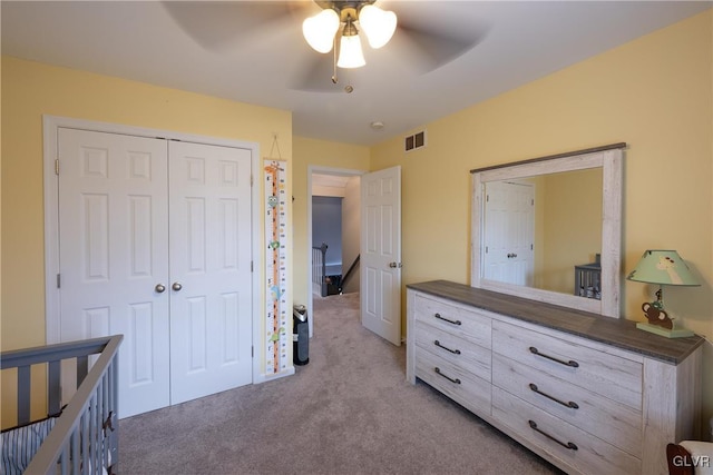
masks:
POLYGON ((641 459, 498 388, 492 416, 530 444, 587 474, 641 473, 641 459), (568 444, 569 447, 567 447, 568 444))

